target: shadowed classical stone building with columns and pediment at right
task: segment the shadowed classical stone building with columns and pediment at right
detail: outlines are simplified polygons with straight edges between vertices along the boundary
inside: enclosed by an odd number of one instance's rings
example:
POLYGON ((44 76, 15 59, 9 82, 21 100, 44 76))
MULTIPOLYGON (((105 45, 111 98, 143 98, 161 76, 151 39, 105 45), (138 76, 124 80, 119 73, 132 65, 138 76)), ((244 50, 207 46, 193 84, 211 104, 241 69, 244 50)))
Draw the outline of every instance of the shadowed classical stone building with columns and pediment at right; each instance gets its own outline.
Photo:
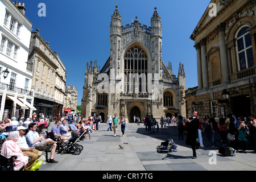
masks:
POLYGON ((186 91, 187 113, 255 113, 256 1, 212 0, 191 39, 198 86, 186 91), (215 12, 215 13, 214 13, 215 12))

